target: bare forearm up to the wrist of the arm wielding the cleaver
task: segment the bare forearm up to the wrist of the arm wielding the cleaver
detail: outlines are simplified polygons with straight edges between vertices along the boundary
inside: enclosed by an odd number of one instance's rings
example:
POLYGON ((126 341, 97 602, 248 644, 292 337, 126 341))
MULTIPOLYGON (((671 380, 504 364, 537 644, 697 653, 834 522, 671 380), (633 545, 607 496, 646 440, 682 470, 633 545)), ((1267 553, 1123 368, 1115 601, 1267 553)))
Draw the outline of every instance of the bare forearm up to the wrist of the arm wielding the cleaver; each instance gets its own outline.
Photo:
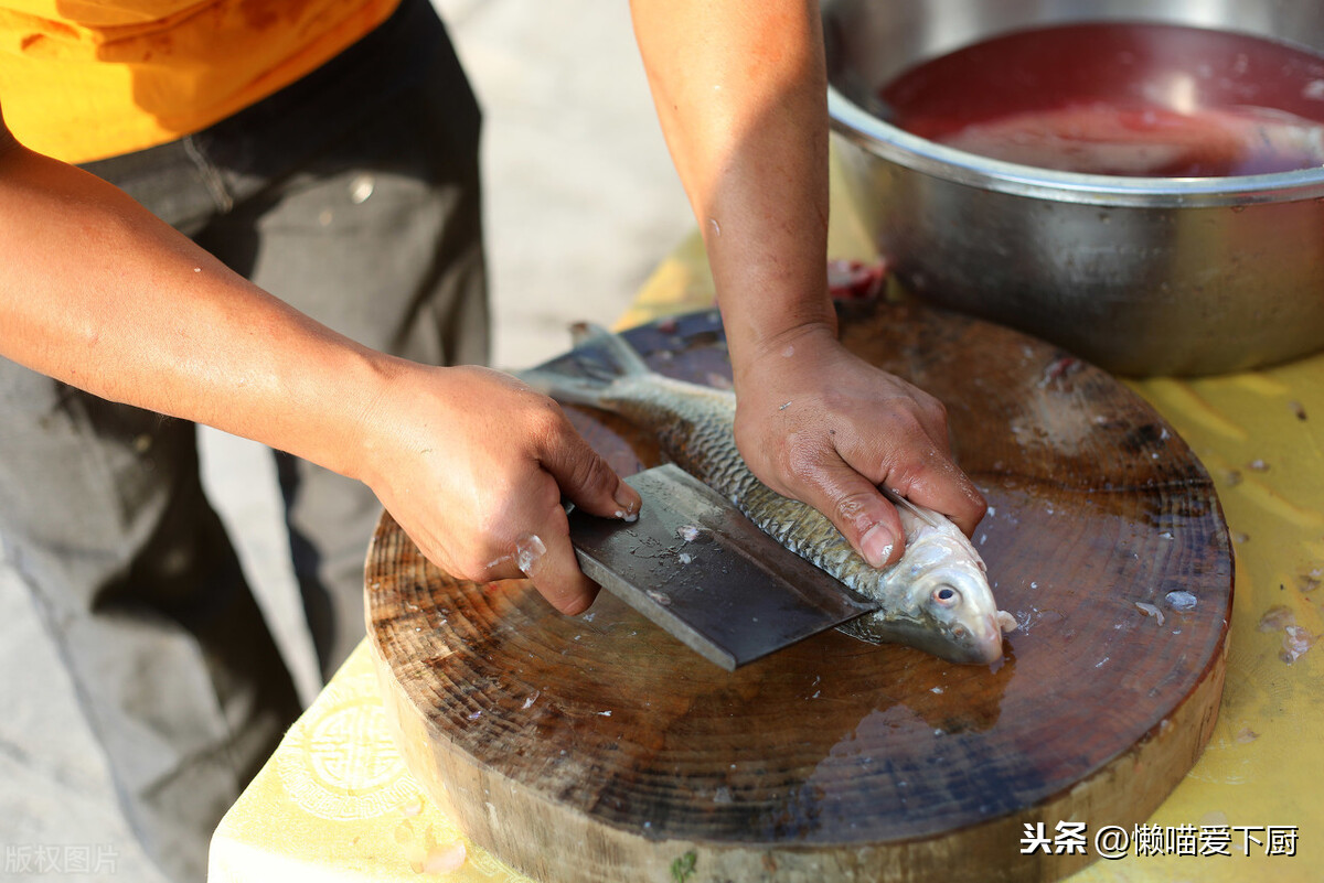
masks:
POLYGON ((120 190, 0 148, 0 353, 343 473, 393 362, 266 295, 120 190))

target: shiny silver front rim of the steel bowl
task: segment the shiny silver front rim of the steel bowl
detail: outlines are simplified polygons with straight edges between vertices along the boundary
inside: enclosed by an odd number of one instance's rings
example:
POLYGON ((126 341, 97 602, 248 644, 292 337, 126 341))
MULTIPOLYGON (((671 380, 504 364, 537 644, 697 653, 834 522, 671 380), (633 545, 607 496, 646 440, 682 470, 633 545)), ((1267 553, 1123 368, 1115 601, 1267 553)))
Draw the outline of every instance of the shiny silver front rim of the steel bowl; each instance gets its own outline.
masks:
POLYGON ((831 128, 865 151, 956 184, 1013 196, 1100 206, 1246 206, 1324 197, 1324 167, 1209 178, 1132 177, 1041 169, 937 144, 874 116, 828 86, 831 128))

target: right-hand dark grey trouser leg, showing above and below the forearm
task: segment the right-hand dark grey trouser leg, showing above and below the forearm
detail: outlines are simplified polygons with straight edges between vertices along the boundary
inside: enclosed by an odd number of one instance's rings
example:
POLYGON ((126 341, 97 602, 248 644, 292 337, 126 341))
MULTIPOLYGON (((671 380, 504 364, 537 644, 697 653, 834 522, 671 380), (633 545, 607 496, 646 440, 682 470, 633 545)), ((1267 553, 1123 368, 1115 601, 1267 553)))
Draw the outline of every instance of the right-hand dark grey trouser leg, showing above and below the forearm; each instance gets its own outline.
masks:
MULTIPOLYGON (((258 107, 242 131, 199 139, 237 194, 199 242, 361 344, 429 364, 483 362, 477 103, 426 3, 406 0, 372 41, 343 70, 303 83, 297 106, 258 107), (369 107, 344 106, 364 94, 369 107), (328 134, 328 106, 352 126, 328 134), (318 151, 274 180, 249 163, 308 144, 318 151), (261 188, 245 193, 253 180, 261 188)), ((381 508, 364 485, 295 457, 278 455, 278 471, 295 575, 330 674, 364 636, 364 553, 381 508)))

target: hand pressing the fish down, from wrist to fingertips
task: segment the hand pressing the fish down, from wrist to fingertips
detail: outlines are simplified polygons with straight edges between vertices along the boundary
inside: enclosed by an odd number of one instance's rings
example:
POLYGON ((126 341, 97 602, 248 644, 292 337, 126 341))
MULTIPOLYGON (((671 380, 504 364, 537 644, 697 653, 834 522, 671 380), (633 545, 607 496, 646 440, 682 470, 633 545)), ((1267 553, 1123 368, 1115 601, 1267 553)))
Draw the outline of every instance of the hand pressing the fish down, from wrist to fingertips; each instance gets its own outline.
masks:
POLYGON ((986 505, 952 461, 947 411, 923 390, 849 353, 812 325, 737 366, 736 445, 769 488, 822 512, 880 567, 906 546, 879 486, 970 535, 986 505))

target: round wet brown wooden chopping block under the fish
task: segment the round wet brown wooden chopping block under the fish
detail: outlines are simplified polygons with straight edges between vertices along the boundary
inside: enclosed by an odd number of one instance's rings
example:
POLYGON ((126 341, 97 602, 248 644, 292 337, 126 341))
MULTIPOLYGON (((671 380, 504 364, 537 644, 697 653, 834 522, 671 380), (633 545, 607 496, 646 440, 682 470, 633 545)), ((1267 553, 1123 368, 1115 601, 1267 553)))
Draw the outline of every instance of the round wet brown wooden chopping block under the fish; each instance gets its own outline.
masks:
MULTIPOLYGON (((626 337, 665 374, 730 377, 715 313, 626 337)), ((1025 824, 1129 829, 1194 763, 1233 563, 1190 449, 1110 375, 982 321, 882 307, 843 340, 947 403, 990 504, 974 543, 1021 623, 1006 660, 828 632, 727 673, 605 594, 563 617, 523 580, 454 580, 384 517, 367 579, 388 715, 475 842, 543 883, 1055 879, 1088 858, 1022 855, 1025 824)), ((614 418, 572 419, 625 473, 659 461, 614 418)))

